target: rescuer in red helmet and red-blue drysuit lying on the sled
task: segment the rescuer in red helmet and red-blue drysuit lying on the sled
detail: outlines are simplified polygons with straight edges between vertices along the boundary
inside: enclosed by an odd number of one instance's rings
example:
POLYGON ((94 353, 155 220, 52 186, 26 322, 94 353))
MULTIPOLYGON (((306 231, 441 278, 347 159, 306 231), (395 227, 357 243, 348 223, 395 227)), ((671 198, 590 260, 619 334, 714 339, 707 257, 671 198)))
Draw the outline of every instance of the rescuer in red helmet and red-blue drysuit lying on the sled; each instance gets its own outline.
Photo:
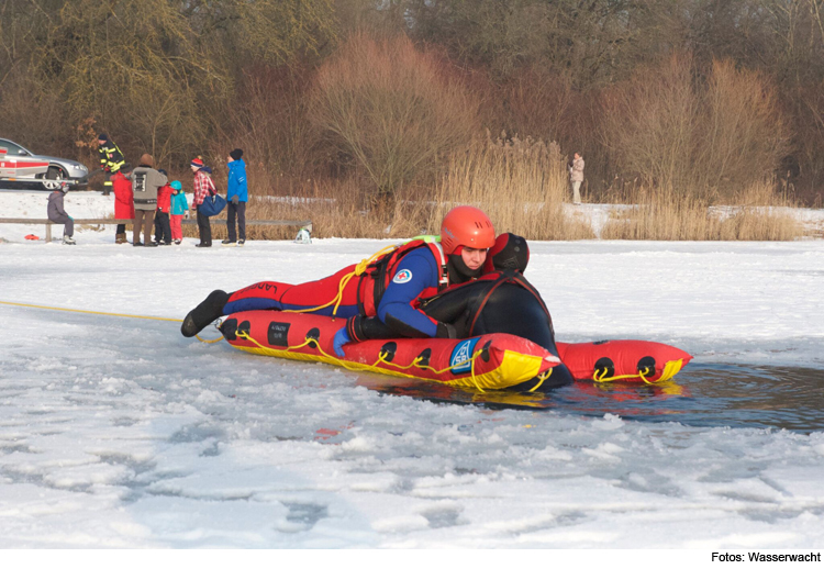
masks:
POLYGON ((226 293, 215 290, 189 312, 180 332, 194 336, 223 315, 249 310, 303 311, 342 316, 347 324, 335 335, 335 352, 343 345, 371 337, 357 325, 377 319, 396 336, 455 337, 455 328, 438 322, 415 305, 450 285, 481 275, 488 248, 495 243, 492 222, 481 210, 460 205, 441 224, 441 241, 413 239, 369 264, 348 266, 321 280, 301 285, 258 282, 226 293), (344 288, 341 282, 348 277, 344 288))

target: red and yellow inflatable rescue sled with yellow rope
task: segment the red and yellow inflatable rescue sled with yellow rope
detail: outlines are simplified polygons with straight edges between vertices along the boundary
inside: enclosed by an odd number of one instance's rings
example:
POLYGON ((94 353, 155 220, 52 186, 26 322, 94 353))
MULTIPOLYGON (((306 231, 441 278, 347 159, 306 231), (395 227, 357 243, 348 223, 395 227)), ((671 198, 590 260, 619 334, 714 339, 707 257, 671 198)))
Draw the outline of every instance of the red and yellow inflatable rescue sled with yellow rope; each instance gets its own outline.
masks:
POLYGON ((552 386, 547 379, 561 362, 575 380, 659 382, 672 378, 692 359, 679 348, 648 341, 556 343, 556 357, 532 341, 503 333, 466 339, 349 343, 344 347, 346 356, 341 358, 335 355, 333 339, 345 322, 318 314, 260 310, 232 314, 221 324, 221 332, 235 348, 256 355, 321 361, 481 391, 523 383, 534 391, 545 381, 552 386))

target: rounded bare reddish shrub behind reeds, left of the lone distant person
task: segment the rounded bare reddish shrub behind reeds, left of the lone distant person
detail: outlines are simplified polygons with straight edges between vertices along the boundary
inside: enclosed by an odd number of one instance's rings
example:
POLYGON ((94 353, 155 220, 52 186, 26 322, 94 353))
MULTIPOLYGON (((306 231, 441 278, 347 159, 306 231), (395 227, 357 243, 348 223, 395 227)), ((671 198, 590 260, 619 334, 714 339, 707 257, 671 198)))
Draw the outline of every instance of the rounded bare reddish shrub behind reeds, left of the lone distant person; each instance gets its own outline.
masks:
POLYGON ((477 109, 444 63, 409 38, 355 34, 320 67, 311 120, 378 193, 392 193, 465 146, 477 109))

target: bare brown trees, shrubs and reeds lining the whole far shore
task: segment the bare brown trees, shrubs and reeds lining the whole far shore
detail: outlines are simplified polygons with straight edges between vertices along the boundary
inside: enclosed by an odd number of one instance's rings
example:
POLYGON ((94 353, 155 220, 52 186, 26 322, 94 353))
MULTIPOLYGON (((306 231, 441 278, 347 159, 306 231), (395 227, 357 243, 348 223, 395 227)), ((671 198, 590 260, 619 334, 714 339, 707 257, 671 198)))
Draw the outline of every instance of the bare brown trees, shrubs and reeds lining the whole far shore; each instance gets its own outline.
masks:
POLYGON ((0 133, 93 166, 105 132, 185 186, 202 155, 219 189, 240 146, 250 220, 341 236, 433 231, 458 202, 591 236, 563 203, 580 150, 588 201, 645 208, 611 236, 782 238, 748 205, 704 214, 754 188, 824 201, 823 1, 8 0, 0 133))

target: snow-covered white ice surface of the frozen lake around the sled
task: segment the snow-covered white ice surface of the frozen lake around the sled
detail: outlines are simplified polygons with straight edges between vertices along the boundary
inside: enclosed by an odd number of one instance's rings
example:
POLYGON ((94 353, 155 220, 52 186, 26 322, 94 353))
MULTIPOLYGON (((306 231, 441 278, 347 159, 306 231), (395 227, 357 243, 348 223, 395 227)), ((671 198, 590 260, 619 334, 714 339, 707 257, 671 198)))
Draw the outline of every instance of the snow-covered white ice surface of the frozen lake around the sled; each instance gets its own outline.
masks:
MULTIPOLYGON (((0 215, 41 212, 19 196, 0 194, 0 215)), ((70 193, 67 210, 110 203, 70 193)), ((0 301, 181 319, 214 288, 319 278, 386 245, 133 248, 113 228, 79 231, 75 247, 24 241, 42 227, 0 224, 0 301)), ((672 344, 695 356, 676 382, 738 365, 801 368, 806 389, 824 388, 822 241, 531 249, 559 339, 672 344)), ((786 431, 436 403, 375 389, 391 379, 186 339, 175 322, 0 314, 3 547, 824 545, 815 416, 786 431)))

